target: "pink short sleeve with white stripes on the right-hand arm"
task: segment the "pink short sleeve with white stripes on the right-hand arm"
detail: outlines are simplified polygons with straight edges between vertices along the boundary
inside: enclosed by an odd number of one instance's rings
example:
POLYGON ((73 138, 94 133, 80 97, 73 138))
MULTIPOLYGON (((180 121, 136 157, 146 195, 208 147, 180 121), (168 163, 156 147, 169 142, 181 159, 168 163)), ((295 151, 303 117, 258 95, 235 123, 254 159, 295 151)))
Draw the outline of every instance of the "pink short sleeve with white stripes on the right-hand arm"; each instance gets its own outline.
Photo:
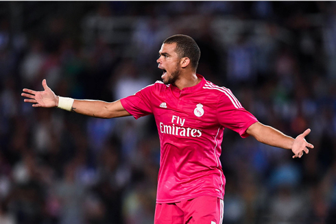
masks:
POLYGON ((248 137, 246 130, 250 125, 258 122, 255 116, 241 106, 230 90, 219 97, 217 119, 223 127, 239 133, 242 138, 248 137))

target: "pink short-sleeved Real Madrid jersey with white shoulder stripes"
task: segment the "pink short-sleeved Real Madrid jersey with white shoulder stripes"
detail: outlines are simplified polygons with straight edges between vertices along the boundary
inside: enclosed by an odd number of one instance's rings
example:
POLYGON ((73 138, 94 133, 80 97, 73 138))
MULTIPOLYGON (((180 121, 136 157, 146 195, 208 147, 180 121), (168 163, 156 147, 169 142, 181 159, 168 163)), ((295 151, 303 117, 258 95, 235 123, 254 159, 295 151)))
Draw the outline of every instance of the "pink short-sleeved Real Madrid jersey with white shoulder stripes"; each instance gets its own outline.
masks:
POLYGON ((135 119, 154 114, 160 137, 157 203, 173 203, 203 195, 224 199, 221 169, 225 127, 245 138, 256 118, 232 92, 206 81, 178 89, 156 82, 121 99, 135 119))

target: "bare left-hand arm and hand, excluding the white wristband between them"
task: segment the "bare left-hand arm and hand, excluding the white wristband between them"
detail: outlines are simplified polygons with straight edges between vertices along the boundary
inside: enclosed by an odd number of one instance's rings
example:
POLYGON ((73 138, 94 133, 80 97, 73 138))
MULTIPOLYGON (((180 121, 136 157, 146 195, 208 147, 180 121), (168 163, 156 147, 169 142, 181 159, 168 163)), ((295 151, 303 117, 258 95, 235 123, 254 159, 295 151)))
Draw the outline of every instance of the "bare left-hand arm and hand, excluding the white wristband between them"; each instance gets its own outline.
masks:
MULTIPOLYGON (((53 108, 58 106, 59 97, 47 86, 47 81, 43 79, 43 91, 23 89, 21 96, 27 97, 25 102, 34 103, 34 108, 53 108)), ((103 119, 110 119, 119 116, 130 116, 131 114, 123 108, 120 100, 112 103, 97 100, 77 100, 73 101, 72 110, 79 114, 95 116, 103 119)))

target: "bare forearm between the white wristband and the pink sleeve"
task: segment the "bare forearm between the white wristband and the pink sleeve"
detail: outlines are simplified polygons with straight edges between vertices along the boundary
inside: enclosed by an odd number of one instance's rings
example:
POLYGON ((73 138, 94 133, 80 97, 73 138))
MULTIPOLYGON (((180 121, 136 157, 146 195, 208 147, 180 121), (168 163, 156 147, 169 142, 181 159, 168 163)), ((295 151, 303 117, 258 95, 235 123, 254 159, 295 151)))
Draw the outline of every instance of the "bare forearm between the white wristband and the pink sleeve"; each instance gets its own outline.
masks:
POLYGON ((87 116, 94 116, 102 119, 110 119, 130 114, 123 108, 120 100, 108 103, 99 100, 75 99, 71 111, 87 116))

